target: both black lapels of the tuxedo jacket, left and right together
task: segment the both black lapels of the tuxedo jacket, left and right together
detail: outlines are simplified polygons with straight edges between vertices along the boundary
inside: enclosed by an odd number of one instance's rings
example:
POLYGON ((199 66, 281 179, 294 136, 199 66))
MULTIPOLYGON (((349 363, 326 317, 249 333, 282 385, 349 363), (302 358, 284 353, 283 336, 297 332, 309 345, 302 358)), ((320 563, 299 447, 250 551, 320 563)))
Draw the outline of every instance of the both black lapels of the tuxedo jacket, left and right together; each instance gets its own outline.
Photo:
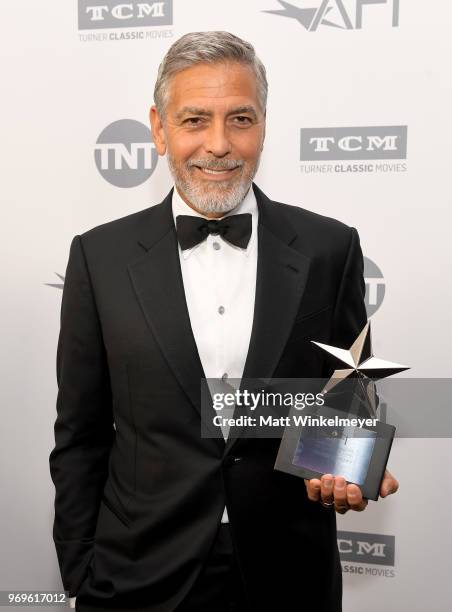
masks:
MULTIPOLYGON (((282 205, 269 200, 253 183, 259 210, 258 262, 254 319, 243 372, 247 378, 271 378, 278 365, 298 311, 307 281, 310 260, 294 248, 297 234, 282 205)), ((145 254, 128 266, 145 319, 187 397, 212 427, 216 412, 201 411, 200 381, 205 373, 193 336, 179 261, 172 194, 151 207, 148 222, 138 238, 145 254)), ((241 388, 244 382, 242 381, 241 388)), ((244 428, 231 428, 228 453, 244 428)))

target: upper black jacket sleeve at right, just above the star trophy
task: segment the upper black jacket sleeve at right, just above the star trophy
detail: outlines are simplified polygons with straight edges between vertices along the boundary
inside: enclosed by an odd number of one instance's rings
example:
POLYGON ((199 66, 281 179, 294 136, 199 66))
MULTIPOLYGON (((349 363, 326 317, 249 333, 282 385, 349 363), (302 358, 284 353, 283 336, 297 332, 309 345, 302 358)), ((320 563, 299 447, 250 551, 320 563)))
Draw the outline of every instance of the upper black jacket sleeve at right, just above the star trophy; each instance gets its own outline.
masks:
POLYGON ((331 333, 331 344, 341 348, 349 348, 367 323, 363 254, 358 232, 352 227, 350 233, 331 333))

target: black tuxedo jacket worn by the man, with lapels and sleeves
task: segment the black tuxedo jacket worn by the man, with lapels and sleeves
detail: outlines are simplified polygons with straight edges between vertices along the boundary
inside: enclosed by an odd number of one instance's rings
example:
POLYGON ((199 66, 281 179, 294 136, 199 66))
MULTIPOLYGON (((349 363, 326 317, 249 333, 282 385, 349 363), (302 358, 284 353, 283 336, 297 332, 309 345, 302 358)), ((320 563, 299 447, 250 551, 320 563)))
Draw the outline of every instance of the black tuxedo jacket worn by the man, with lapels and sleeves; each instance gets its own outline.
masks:
MULTIPOLYGON (((358 234, 253 188, 258 268, 243 376, 325 375, 310 340, 348 347, 366 322, 358 234)), ((50 454, 64 588, 81 611, 175 610, 226 503, 250 610, 336 612, 334 510, 273 469, 278 439, 200 435, 204 373, 171 198, 72 240, 50 454)))

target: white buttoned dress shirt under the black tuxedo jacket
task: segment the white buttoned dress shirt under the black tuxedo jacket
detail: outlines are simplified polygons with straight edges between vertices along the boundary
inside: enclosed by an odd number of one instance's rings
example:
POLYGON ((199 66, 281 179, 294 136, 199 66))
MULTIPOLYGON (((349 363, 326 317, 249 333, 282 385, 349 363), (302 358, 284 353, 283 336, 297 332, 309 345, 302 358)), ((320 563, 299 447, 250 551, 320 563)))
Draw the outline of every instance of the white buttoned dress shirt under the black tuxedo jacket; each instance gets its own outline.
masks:
MULTIPOLYGON (((207 218, 188 206, 176 188, 172 208, 174 224, 177 215, 207 218)), ((248 354, 257 269, 258 209, 252 187, 224 217, 242 213, 251 213, 252 221, 246 249, 213 234, 191 249, 182 251, 179 245, 191 328, 206 378, 241 379, 248 354)), ((221 520, 228 522, 226 507, 221 520)))

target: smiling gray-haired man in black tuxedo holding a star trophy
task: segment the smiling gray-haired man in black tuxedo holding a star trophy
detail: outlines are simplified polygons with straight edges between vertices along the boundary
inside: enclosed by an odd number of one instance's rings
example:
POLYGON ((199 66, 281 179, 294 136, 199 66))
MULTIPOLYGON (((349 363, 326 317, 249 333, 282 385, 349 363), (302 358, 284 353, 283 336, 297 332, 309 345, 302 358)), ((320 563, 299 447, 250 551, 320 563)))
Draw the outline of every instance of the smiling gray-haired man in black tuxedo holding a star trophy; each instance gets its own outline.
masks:
MULTIPOLYGON (((50 456, 64 588, 81 612, 336 612, 335 510, 364 509, 359 488, 275 471, 278 439, 202 437, 200 381, 322 376, 310 339, 348 347, 366 322, 357 232, 252 183, 267 81, 249 43, 183 36, 154 94, 175 188, 70 249, 50 456)), ((397 487, 387 472, 381 495, 397 487)))

